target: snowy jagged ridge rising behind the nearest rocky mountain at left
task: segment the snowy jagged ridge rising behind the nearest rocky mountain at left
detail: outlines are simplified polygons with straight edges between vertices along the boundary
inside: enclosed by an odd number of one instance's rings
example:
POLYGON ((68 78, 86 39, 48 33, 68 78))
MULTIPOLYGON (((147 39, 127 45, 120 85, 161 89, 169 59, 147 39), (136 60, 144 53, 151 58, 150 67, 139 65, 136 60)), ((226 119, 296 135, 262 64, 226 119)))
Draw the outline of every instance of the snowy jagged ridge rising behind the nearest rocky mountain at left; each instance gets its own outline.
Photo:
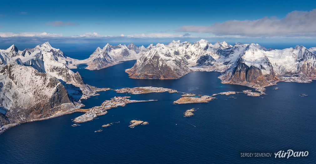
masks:
POLYGON ((73 63, 79 60, 69 58, 60 49, 53 48, 49 42, 23 51, 13 45, 6 50, 0 50, 0 56, 3 56, 3 64, 15 62, 56 77, 68 91, 71 91, 70 97, 74 101, 78 101, 82 95, 92 93, 91 89, 83 83, 79 73, 70 70, 74 68, 73 63))

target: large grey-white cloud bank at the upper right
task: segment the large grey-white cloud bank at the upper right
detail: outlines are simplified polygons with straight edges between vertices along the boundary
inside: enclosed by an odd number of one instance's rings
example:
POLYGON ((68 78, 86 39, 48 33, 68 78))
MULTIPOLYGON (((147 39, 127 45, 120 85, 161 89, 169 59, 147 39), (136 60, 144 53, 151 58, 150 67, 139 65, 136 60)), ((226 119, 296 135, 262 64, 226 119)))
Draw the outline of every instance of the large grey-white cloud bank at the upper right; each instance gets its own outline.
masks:
POLYGON ((210 26, 182 26, 178 31, 248 37, 316 36, 316 9, 309 12, 292 11, 283 19, 228 20, 210 26))

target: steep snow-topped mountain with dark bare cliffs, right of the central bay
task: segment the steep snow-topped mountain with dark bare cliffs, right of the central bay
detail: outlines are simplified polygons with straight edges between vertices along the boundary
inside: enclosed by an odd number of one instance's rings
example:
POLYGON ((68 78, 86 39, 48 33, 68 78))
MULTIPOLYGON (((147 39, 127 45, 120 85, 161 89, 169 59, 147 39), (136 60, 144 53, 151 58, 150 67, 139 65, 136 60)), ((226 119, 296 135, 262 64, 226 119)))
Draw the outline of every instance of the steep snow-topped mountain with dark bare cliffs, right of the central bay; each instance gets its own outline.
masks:
POLYGON ((258 44, 239 45, 239 59, 219 78, 225 83, 262 87, 279 80, 264 50, 258 44))

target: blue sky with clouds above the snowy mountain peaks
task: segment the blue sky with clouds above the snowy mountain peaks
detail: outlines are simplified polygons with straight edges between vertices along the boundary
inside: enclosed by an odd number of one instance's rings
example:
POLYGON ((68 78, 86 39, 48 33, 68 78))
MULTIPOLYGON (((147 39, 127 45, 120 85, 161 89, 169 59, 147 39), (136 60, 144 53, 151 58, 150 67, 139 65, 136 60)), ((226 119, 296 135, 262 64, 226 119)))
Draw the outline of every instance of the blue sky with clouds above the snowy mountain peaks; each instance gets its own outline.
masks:
MULTIPOLYGON (((316 46, 312 1, 5 1, 0 48, 226 41, 316 46)), ((307 47, 308 47, 307 46, 307 47)), ((94 47, 95 48, 95 47, 94 47)))

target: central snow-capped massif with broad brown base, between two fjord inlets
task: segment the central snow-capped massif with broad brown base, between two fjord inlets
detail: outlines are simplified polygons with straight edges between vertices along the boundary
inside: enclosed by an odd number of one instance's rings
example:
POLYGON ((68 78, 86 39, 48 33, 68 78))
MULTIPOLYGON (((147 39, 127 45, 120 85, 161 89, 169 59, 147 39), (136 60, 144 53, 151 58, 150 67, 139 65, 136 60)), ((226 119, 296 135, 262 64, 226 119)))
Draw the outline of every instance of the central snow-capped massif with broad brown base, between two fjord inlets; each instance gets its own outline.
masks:
POLYGON ((126 72, 131 78, 154 79, 176 79, 192 70, 222 72, 229 67, 224 64, 225 58, 220 55, 221 52, 224 52, 220 48, 224 47, 233 46, 226 42, 217 42, 213 45, 204 39, 193 44, 180 41, 172 41, 167 45, 158 43, 154 46, 151 44, 135 65, 131 69, 127 69, 126 72), (168 74, 170 76, 167 76, 168 74))

